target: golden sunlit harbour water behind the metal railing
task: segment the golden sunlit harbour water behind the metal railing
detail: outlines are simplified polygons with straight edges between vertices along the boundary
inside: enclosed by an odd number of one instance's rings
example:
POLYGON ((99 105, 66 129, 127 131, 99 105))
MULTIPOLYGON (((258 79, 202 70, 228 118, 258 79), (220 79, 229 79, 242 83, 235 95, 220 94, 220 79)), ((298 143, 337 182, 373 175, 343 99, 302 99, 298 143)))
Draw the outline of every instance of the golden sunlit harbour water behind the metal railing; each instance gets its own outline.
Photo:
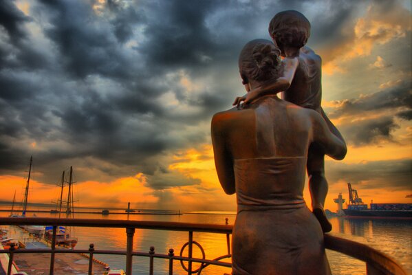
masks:
MULTIPOLYGON (((43 209, 39 209, 43 210, 43 209)), ((93 210, 97 212, 97 210, 93 210)), ((79 219, 129 219, 137 221, 177 221, 184 223, 215 223, 225 224, 235 222, 236 215, 233 212, 182 212, 182 215, 151 215, 151 214, 75 214, 79 219)), ((8 212, 0 212, 0 217, 8 216, 8 212)), ((29 216, 32 214, 29 213, 29 216)), ((37 217, 58 217, 58 214, 36 213, 37 217)), ((392 219, 345 219, 332 217, 332 234, 359 243, 365 243, 391 256, 401 263, 412 274, 411 250, 412 250, 412 221, 392 219)), ((78 245, 76 249, 88 249, 90 243, 94 243, 96 250, 125 250, 126 232, 124 228, 74 228, 78 245)), ((276 236, 274 236, 275 238, 276 236)), ((199 243, 205 252, 206 259, 215 259, 228 254, 226 234, 194 232, 193 241, 199 243)), ((169 248, 175 250, 175 255, 180 255, 182 246, 188 242, 188 232, 175 232, 166 230, 135 230, 133 250, 149 252, 153 246, 156 253, 167 254, 169 248)), ((187 247, 182 251, 187 256, 187 247)), ((202 253, 195 245, 193 256, 202 258, 202 253)), ((344 254, 327 250, 327 257, 336 275, 366 274, 366 264, 344 254)), ((96 258, 110 265, 111 269, 125 269, 125 257, 96 254, 96 258)), ((155 274, 169 274, 169 261, 154 259, 155 274)), ((230 262, 230 259, 223 260, 230 262)), ((187 263, 186 263, 187 265, 187 263)), ((193 263, 193 269, 199 266, 193 263)), ((94 271, 100 274, 100 266, 95 265, 94 271)), ((181 267, 180 261, 174 261, 174 274, 187 274, 181 267)), ((227 267, 208 266, 202 274, 230 273, 227 267)), ((58 270, 56 270, 56 274, 58 270)), ((149 274, 149 258, 133 256, 133 274, 149 274)))

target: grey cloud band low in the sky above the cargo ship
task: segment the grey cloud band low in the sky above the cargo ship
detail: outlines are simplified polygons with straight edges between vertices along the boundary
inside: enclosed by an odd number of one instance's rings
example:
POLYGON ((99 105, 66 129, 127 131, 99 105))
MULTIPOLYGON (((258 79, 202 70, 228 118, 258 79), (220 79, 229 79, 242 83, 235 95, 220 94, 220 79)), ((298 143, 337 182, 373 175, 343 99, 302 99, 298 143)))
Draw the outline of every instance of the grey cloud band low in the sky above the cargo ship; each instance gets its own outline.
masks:
POLYGON ((384 188, 385 190, 410 190, 412 159, 385 160, 344 164, 327 162, 329 182, 345 180, 362 188, 384 188), (330 171, 329 170, 329 171, 330 171))

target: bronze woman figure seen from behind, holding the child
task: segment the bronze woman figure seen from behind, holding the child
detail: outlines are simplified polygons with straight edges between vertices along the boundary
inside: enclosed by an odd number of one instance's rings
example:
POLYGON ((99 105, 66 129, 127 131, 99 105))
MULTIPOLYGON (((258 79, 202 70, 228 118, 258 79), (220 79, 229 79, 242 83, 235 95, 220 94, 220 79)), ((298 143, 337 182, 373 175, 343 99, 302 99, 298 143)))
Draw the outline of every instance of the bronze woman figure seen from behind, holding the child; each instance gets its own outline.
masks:
MULTIPOLYGON (((243 47, 239 71, 247 91, 282 76, 280 52, 261 39, 243 47)), ((212 120, 217 175, 224 191, 237 195, 232 274, 330 274, 321 226, 303 200, 305 166, 311 144, 343 159, 345 142, 321 114, 276 93, 212 120)))

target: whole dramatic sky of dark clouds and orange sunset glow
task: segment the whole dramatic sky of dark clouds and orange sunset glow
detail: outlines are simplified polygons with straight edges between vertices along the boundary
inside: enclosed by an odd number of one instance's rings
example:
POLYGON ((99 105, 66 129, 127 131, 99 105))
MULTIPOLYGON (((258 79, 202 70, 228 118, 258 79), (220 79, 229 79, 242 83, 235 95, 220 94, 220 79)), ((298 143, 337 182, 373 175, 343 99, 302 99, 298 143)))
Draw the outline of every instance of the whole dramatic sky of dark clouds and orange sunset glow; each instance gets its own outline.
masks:
MULTIPOLYGON (((327 208, 350 181, 366 202, 411 190, 409 1, 0 1, 0 200, 235 210, 210 142, 213 113, 244 94, 237 56, 281 10, 312 23, 323 107, 347 140, 327 159, 327 208)), ((307 195, 307 192, 305 192, 307 195)))

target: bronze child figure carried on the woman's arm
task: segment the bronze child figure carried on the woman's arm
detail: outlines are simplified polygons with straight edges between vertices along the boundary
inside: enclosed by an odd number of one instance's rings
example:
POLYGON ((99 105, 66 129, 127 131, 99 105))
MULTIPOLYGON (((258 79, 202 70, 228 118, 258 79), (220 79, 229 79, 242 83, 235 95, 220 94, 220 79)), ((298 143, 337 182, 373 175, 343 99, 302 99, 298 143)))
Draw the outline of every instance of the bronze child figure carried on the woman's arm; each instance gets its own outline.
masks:
MULTIPOLYGON (((248 104, 259 96, 285 91, 282 97, 284 100, 320 113, 329 130, 345 142, 321 107, 321 57, 305 46, 310 36, 310 22, 303 14, 294 10, 279 12, 270 21, 269 33, 284 58, 283 76, 272 78, 246 96, 236 98, 234 104, 239 107, 242 101, 243 104, 248 104)), ((328 189, 324 156, 322 148, 312 144, 307 155, 306 167, 313 212, 321 223, 323 232, 329 232, 332 225, 327 221, 323 210, 328 189)))

